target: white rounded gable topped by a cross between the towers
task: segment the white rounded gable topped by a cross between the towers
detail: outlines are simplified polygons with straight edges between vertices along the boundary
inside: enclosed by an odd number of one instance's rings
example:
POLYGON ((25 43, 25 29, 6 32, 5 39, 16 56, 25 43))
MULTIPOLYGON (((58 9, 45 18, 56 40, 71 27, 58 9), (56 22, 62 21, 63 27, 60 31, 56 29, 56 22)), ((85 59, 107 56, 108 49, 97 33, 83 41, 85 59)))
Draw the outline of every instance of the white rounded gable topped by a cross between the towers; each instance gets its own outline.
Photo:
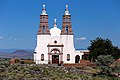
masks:
POLYGON ((54 19, 54 27, 50 29, 50 34, 52 37, 60 36, 61 30, 57 28, 56 19, 54 19))

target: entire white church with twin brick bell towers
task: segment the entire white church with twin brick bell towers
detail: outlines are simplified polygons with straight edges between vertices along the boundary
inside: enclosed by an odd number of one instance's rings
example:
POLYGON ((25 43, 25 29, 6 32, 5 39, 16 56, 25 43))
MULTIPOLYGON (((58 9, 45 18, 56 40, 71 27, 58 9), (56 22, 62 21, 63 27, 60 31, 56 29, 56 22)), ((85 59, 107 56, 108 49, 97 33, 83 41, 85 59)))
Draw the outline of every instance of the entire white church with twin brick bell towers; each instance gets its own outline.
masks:
POLYGON ((74 34, 72 31, 71 15, 66 5, 62 17, 62 30, 54 20, 53 28, 49 29, 48 14, 43 5, 40 14, 40 26, 37 33, 37 46, 34 52, 36 64, 73 64, 80 63, 82 56, 88 50, 75 50, 74 34))

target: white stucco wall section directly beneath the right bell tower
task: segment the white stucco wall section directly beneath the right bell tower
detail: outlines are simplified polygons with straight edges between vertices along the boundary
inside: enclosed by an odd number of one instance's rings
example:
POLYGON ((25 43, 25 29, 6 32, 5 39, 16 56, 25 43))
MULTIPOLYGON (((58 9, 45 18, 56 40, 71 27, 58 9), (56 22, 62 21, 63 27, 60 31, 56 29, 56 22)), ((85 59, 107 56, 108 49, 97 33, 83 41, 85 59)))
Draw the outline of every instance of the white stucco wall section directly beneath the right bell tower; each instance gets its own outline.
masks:
POLYGON ((63 61, 64 63, 74 63, 74 43, 73 35, 61 35, 61 42, 64 45, 63 48, 63 61), (70 60, 67 61, 67 54, 70 54, 70 60))

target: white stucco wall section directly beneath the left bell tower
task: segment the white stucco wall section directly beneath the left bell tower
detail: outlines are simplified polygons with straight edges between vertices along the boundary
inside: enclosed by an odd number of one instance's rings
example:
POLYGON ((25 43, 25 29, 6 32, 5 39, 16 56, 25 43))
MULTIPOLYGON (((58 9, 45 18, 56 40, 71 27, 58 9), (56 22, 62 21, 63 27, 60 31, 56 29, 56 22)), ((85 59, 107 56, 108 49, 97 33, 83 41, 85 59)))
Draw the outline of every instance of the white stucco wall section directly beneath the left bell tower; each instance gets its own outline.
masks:
POLYGON ((48 64, 48 43, 50 42, 50 35, 37 35, 36 64, 48 64), (41 54, 44 54, 44 61, 41 61, 41 54))

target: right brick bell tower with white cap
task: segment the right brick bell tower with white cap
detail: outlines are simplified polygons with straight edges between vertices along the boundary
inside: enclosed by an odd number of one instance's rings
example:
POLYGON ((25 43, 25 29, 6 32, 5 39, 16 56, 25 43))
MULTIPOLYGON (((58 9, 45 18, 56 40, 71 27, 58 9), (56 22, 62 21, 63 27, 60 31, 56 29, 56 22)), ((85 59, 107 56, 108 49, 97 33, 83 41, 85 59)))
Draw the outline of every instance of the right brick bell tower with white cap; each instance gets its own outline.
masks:
POLYGON ((73 35, 68 5, 66 5, 65 14, 63 15, 61 35, 73 35))

